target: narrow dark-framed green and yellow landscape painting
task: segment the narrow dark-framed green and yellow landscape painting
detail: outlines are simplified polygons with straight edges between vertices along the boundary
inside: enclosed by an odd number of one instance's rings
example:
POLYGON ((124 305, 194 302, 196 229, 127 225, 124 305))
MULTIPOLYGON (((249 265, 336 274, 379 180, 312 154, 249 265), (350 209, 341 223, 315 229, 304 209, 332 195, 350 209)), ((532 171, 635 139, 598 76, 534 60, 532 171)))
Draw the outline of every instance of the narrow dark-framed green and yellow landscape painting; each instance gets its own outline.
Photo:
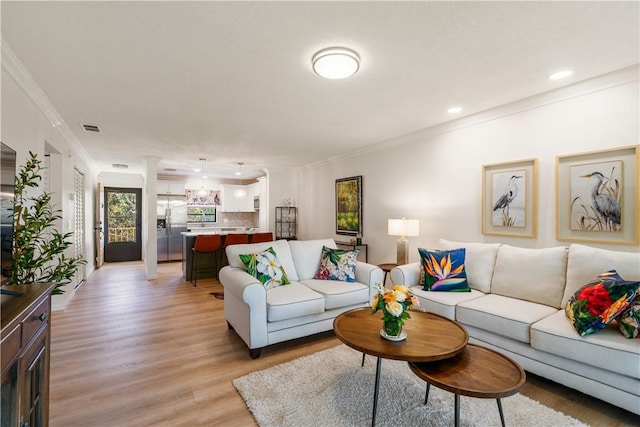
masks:
POLYGON ((362 236, 362 175, 336 179, 336 234, 362 236))

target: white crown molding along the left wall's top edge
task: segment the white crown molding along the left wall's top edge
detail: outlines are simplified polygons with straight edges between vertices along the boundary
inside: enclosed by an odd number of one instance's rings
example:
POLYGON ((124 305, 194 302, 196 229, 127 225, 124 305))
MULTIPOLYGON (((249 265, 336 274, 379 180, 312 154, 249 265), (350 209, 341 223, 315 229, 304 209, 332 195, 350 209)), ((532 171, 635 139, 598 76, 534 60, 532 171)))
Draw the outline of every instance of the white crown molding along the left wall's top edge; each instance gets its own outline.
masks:
POLYGON ((78 138, 71 131, 64 119, 58 113, 56 107, 51 103, 47 95, 40 89, 40 86, 31 77, 31 74, 22 65, 20 59, 9 46, 9 43, 2 37, 2 68, 15 80, 18 86, 27 94, 33 103, 42 111, 53 128, 55 128, 69 146, 75 151, 79 157, 87 164, 87 167, 93 169, 94 163, 89 153, 84 149, 78 138))

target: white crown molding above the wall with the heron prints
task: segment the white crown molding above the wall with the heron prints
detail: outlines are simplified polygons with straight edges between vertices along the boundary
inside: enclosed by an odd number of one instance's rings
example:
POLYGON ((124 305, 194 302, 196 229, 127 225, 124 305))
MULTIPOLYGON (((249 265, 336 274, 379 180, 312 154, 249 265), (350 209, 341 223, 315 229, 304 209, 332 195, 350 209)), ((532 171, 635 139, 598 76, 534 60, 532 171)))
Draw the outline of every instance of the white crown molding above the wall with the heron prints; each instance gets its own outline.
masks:
POLYGON ((640 78, 639 76, 640 64, 634 64, 607 74, 592 77, 590 79, 582 80, 570 85, 562 86, 557 89, 552 89, 547 92, 532 95, 527 98, 522 98, 517 101, 509 102, 507 104, 499 105, 497 107, 480 111, 478 113, 461 117, 459 119, 451 120, 427 127, 425 129, 420 129, 415 132, 381 141, 360 150, 352 151, 340 156, 334 156, 319 162, 310 163, 301 166, 301 168, 313 169, 316 167, 330 165, 335 162, 352 159, 363 154, 374 153, 392 147, 398 147, 418 141, 424 141, 425 139, 433 137, 435 135, 454 132, 469 126, 476 126, 481 123, 501 119, 513 114, 518 114, 528 110, 534 110, 536 108, 545 107, 547 105, 563 102, 572 98, 599 92, 601 90, 611 89, 616 86, 622 86, 628 83, 637 82, 640 78))

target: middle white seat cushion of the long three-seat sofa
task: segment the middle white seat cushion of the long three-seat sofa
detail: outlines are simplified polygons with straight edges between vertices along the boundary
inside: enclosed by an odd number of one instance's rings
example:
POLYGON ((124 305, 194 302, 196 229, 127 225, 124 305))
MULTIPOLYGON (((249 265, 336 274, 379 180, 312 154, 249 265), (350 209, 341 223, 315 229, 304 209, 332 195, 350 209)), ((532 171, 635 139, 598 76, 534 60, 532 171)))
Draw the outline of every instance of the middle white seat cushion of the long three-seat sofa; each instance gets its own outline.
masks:
POLYGON ((456 320, 528 343, 531 325, 556 311, 544 304, 489 294, 458 304, 456 320))

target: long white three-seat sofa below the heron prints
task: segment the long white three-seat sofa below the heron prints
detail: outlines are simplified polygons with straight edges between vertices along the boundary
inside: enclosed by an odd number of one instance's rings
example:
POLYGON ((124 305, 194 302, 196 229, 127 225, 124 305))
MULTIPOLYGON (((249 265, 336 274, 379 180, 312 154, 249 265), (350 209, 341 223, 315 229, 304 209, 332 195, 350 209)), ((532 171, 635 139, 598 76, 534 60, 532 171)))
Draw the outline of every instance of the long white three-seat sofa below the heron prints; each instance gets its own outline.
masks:
POLYGON ((470 342, 493 348, 536 375, 640 414, 640 339, 627 339, 616 322, 580 336, 567 319, 567 300, 599 274, 615 269, 640 280, 640 253, 573 244, 524 249, 440 240, 439 249, 466 250, 471 292, 428 292, 419 263, 391 271, 410 286, 427 311, 455 319, 470 342))

